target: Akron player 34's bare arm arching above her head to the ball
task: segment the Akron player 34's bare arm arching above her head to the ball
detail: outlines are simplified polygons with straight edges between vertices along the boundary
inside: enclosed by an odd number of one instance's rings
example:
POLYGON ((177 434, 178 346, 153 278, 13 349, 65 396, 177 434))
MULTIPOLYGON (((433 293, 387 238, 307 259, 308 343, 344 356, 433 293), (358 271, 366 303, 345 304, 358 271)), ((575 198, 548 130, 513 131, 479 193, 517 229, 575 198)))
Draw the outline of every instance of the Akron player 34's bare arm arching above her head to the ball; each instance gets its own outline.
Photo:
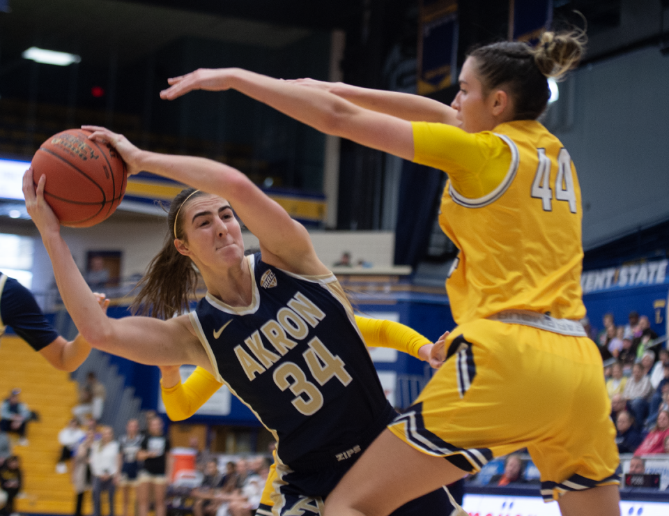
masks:
POLYGON ((123 135, 102 127, 83 129, 93 132, 90 139, 114 146, 130 170, 153 172, 226 199, 258 237, 266 263, 296 274, 329 273, 316 256, 307 229, 237 169, 206 158, 141 151, 123 135))

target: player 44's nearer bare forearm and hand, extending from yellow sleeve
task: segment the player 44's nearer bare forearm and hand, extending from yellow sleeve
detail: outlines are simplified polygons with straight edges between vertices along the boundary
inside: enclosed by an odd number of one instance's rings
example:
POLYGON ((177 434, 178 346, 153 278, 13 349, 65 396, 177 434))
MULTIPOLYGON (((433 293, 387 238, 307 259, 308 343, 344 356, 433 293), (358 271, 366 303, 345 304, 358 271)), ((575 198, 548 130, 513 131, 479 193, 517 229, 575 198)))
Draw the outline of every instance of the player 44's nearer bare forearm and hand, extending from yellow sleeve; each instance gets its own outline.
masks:
POLYGON ((240 68, 196 70, 169 82, 171 86, 160 92, 161 98, 173 100, 195 89, 236 89, 328 135, 413 160, 410 122, 364 109, 323 89, 305 88, 240 68))

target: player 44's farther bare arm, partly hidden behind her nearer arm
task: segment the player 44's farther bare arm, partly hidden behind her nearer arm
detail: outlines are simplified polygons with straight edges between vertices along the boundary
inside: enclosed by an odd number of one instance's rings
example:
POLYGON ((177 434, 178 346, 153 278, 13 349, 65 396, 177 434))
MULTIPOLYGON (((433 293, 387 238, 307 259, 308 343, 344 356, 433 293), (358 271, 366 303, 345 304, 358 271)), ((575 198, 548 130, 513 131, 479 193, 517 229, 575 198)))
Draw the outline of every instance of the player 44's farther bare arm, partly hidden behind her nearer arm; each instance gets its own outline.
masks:
POLYGON ((344 82, 325 82, 314 79, 293 79, 286 82, 329 91, 357 106, 397 116, 399 119, 410 122, 438 122, 447 123, 450 126, 459 125, 455 109, 440 103, 438 100, 413 93, 362 88, 344 82))

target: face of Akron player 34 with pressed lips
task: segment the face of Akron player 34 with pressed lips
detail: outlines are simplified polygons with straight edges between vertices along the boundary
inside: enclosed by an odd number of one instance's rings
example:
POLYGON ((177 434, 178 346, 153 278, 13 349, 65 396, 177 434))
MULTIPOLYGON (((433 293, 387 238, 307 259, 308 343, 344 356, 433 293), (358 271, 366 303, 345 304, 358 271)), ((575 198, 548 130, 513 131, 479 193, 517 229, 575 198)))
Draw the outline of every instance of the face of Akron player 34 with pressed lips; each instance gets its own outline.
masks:
POLYGON ((201 271, 240 264, 244 241, 229 202, 217 195, 200 195, 184 211, 184 245, 201 271))

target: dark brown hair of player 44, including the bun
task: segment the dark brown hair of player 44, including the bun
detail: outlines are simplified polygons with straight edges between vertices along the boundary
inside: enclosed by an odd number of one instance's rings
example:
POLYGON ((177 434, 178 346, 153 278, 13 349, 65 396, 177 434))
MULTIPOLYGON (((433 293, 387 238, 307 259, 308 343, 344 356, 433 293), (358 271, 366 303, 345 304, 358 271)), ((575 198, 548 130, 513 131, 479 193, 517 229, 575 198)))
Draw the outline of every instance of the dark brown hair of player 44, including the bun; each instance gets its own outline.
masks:
POLYGON ((528 43, 501 41, 477 47, 467 56, 484 94, 505 88, 514 100, 514 120, 536 120, 546 109, 551 92, 547 77, 562 77, 574 68, 585 51, 585 31, 549 32, 532 48, 528 43))

